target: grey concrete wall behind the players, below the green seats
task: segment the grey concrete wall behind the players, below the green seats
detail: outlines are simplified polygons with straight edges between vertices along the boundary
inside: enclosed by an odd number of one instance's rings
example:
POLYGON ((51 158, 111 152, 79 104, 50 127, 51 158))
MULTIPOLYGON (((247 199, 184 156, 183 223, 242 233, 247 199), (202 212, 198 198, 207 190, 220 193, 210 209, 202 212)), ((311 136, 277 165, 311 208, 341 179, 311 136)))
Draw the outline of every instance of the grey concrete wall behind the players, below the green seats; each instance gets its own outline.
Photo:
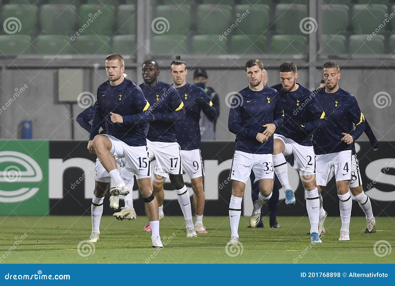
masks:
MULTIPOLYGON (((141 83, 141 74, 136 75, 135 69, 126 69, 130 79, 141 83)), ((276 69, 267 69, 269 85, 279 82, 276 69)), ((221 99, 219 123, 217 124, 217 140, 233 140, 234 136, 228 131, 229 108, 225 104, 225 97, 229 92, 237 92, 247 85, 244 71, 239 68, 207 69, 209 85, 213 86, 221 99)), ((188 82, 192 82, 193 71, 187 75, 188 82)), ((390 69, 342 69, 340 86, 352 92, 358 99, 359 105, 368 118, 378 140, 395 140, 394 116, 395 105, 379 109, 373 103, 373 97, 378 92, 394 95, 393 83, 395 71, 390 69)), ((105 79, 104 69, 98 72, 84 69, 83 89, 96 94, 97 86, 105 79)), ((316 73, 316 88, 320 82, 320 71, 316 73)), ((71 139, 70 108, 57 101, 57 69, 6 69, 0 76, 0 138, 21 138, 21 122, 33 121, 33 139, 71 139), (27 88, 20 95, 15 96, 15 89, 27 88), (10 99, 14 99, 11 103, 10 99), (2 108, 3 107, 3 108, 2 108), (5 108, 5 110, 4 110, 5 108)), ((166 69, 160 74, 160 80, 171 82, 166 69)), ((299 71, 298 82, 305 85, 308 81, 307 68, 299 71)), ((76 95, 77 97, 77 95, 76 95)), ((74 118, 82 109, 73 105, 74 118)), ((87 132, 73 120, 75 139, 87 139, 87 132)), ((362 140, 367 140, 363 135, 362 140)))

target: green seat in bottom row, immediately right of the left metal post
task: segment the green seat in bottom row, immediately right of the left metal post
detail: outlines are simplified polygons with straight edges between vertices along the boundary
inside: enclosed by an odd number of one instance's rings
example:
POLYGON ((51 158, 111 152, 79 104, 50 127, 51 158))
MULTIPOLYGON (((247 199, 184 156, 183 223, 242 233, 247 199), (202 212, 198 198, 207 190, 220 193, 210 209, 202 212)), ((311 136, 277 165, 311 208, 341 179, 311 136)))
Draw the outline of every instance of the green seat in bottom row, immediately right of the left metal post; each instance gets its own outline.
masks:
POLYGON ((184 35, 153 36, 150 50, 156 55, 186 54, 187 38, 184 35))

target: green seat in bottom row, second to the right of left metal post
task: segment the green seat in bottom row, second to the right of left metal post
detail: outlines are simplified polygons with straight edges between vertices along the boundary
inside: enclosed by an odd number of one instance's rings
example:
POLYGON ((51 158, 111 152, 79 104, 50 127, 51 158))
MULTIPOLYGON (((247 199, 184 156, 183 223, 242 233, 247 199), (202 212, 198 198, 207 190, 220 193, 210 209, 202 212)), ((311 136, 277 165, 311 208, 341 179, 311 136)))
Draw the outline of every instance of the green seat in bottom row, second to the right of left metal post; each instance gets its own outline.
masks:
POLYGON ((226 38, 222 41, 218 35, 197 35, 192 37, 192 52, 199 54, 224 54, 227 52, 226 38))

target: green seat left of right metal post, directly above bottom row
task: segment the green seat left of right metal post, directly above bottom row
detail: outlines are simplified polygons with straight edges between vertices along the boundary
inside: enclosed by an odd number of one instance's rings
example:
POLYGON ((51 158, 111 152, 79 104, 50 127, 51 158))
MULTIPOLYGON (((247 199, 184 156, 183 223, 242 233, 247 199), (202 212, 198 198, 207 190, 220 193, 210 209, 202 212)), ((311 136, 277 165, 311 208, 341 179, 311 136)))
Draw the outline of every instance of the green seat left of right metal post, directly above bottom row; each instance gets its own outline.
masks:
POLYGON ((303 4, 277 4, 275 19, 277 34, 303 34, 299 23, 307 17, 307 6, 303 4))

